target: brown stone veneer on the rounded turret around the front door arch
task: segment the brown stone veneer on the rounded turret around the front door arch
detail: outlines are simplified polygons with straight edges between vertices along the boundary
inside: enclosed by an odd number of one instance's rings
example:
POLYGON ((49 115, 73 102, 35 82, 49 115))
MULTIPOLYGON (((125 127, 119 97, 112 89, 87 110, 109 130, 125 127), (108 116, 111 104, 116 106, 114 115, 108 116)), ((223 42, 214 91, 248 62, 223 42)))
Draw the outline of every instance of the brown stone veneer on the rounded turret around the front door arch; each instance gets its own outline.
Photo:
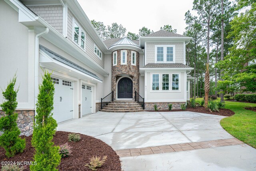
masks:
POLYGON ((119 49, 115 50, 114 52, 117 52, 117 63, 116 66, 113 66, 113 52, 112 52, 112 91, 114 91, 114 99, 116 99, 116 81, 120 74, 128 74, 132 78, 133 82, 133 92, 132 97, 134 99, 135 91, 139 93, 139 77, 140 77, 140 69, 139 69, 139 61, 140 61, 140 54, 139 52, 136 52, 136 66, 132 65, 132 58, 131 58, 131 51, 135 50, 129 50, 129 49, 119 49), (127 65, 121 65, 121 50, 127 50, 127 65))

